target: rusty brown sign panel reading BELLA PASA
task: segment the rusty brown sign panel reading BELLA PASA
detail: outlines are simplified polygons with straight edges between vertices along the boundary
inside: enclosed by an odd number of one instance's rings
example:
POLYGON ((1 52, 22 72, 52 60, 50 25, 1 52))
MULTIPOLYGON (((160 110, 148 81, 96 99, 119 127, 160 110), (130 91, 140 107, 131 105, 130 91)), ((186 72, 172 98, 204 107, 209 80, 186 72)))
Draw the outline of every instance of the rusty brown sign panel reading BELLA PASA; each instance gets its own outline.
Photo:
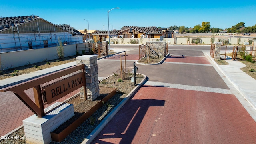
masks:
POLYGON ((74 75, 70 78, 57 82, 45 88, 47 104, 50 104, 63 96, 66 96, 70 92, 85 86, 85 73, 74 75))

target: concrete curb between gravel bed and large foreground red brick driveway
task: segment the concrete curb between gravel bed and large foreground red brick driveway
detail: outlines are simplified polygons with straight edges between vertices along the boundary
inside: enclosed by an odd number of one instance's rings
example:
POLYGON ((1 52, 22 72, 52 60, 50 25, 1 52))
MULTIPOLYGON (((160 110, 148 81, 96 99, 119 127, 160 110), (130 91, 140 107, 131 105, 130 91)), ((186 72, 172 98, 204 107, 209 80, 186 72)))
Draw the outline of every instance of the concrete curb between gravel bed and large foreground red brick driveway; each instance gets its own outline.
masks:
POLYGON ((146 75, 142 74, 144 78, 127 96, 124 98, 115 108, 112 110, 106 118, 100 122, 100 124, 87 136, 86 139, 81 144, 90 144, 92 140, 100 133, 100 131, 108 124, 108 122, 116 115, 116 113, 124 106, 124 104, 138 91, 138 89, 142 86, 142 84, 146 81, 146 75))

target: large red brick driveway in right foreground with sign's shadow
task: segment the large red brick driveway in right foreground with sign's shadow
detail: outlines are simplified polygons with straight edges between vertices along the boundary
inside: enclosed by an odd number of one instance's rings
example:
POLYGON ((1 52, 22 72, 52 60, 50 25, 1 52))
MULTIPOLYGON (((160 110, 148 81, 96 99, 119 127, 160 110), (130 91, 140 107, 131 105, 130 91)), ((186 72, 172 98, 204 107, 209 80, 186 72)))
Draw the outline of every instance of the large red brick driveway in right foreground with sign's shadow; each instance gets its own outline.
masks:
POLYGON ((255 144, 256 122, 231 94, 144 86, 93 143, 255 144))

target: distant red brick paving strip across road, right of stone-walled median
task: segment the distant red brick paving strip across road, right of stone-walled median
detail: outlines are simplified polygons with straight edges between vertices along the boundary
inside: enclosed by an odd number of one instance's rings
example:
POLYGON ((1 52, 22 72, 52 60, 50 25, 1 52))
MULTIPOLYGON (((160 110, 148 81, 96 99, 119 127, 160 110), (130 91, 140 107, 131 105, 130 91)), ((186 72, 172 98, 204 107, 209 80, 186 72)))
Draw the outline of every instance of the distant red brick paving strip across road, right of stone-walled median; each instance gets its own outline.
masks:
POLYGON ((206 57, 196 57, 196 56, 169 56, 166 58, 165 62, 185 62, 185 63, 195 63, 195 64, 211 64, 206 57))

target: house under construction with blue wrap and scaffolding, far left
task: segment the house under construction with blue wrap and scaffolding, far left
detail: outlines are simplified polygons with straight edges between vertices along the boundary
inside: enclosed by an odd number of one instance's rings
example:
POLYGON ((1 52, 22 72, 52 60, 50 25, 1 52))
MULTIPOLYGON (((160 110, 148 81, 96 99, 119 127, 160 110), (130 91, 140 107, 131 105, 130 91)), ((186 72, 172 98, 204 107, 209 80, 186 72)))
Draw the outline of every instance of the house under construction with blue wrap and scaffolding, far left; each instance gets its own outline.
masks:
POLYGON ((53 24, 38 16, 0 18, 0 52, 83 43, 83 34, 67 24, 53 24))

